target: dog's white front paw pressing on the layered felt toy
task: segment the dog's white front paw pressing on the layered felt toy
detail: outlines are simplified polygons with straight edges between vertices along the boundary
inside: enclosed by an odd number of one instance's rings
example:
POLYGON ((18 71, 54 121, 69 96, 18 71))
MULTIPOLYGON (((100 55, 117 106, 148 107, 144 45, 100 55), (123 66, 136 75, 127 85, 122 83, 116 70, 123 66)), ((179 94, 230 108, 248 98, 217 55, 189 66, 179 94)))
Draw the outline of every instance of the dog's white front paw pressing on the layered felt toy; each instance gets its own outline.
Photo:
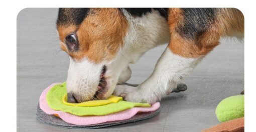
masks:
POLYGON ((157 97, 149 92, 143 92, 141 88, 129 86, 129 85, 116 85, 114 95, 122 96, 124 100, 131 102, 142 102, 142 103, 155 103, 160 100, 161 97, 157 97))

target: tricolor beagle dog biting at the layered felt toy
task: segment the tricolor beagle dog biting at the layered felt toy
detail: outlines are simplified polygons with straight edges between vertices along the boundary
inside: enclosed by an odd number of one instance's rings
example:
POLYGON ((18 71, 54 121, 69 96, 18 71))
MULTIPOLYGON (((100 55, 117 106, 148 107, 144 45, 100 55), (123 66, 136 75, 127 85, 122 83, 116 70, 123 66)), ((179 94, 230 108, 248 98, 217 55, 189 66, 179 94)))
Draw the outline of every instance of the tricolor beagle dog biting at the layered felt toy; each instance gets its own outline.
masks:
POLYGON ((244 17, 236 8, 59 8, 56 24, 70 58, 69 102, 114 94, 154 103, 175 89, 220 37, 244 36, 244 17), (131 77, 130 63, 164 43, 144 82, 117 85, 131 77))

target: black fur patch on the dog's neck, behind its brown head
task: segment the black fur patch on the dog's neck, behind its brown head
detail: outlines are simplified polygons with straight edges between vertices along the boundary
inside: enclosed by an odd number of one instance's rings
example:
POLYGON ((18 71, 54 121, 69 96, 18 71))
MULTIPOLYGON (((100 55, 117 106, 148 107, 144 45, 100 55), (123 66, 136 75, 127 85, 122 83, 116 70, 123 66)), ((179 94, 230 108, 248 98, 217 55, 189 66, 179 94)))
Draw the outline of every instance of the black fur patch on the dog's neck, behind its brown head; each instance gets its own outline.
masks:
POLYGON ((152 12, 152 9, 158 10, 161 16, 168 19, 168 8, 124 8, 126 11, 131 13, 133 16, 142 16, 148 12, 152 12))

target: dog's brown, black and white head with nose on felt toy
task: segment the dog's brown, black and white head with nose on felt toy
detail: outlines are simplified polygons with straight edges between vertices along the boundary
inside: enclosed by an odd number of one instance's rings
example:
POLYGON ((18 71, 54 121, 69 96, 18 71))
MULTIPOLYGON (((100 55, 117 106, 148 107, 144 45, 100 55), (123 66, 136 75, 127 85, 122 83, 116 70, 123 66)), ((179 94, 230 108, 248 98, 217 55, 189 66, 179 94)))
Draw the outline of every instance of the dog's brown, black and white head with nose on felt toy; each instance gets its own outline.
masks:
POLYGON ((117 8, 60 8, 60 46, 70 56, 67 77, 69 102, 110 96, 122 70, 120 53, 128 23, 117 8))

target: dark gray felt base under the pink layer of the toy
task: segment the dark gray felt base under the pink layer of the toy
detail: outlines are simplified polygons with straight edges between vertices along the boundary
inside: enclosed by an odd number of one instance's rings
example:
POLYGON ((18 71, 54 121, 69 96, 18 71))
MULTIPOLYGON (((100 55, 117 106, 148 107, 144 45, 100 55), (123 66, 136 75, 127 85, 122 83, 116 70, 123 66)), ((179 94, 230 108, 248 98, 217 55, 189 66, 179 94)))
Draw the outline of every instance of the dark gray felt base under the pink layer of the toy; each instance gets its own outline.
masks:
POLYGON ((45 113, 39 106, 37 107, 37 119, 40 120, 41 122, 47 123, 49 125, 53 126, 59 126, 59 127, 64 127, 64 128, 101 128, 101 127, 107 127, 111 125, 117 125, 117 124, 123 124, 123 123, 129 123, 129 122, 135 122, 143 119, 147 119, 150 117, 153 117, 157 115, 157 113, 160 111, 160 108, 158 108, 156 111, 151 111, 151 112, 141 112, 137 113, 135 116, 129 119, 125 120, 119 120, 119 121, 111 121, 111 122, 104 122, 104 123, 98 123, 98 124, 91 124, 91 125, 75 125, 75 124, 70 124, 65 122, 59 117, 56 117, 54 115, 50 115, 45 113))

